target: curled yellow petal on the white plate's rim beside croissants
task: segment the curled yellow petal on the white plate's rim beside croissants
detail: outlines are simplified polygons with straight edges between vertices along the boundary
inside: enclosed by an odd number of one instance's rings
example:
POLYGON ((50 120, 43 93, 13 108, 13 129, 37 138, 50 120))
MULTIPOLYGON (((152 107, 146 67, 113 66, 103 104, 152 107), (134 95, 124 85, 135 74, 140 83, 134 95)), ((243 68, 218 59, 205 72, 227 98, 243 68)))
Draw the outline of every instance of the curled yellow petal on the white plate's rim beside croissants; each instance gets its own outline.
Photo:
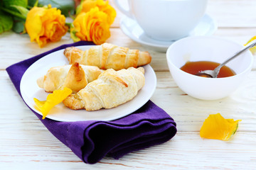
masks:
POLYGON ((68 87, 65 87, 63 90, 55 90, 53 94, 49 94, 46 98, 46 101, 39 101, 37 98, 33 98, 36 103, 38 111, 43 113, 43 119, 46 118, 46 115, 49 113, 50 109, 58 105, 65 98, 72 94, 72 90, 68 87))

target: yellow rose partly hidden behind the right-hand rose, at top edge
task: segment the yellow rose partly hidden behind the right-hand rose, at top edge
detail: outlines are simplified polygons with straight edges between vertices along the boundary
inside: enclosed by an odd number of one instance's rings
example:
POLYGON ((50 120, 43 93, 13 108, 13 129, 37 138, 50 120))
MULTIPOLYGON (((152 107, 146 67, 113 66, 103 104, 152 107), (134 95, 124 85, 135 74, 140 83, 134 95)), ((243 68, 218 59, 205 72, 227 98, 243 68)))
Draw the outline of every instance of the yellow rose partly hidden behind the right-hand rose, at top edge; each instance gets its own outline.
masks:
POLYGON ((107 22, 111 25, 114 22, 114 18, 117 16, 117 12, 114 10, 112 6, 110 6, 109 1, 103 0, 85 0, 81 4, 81 12, 88 12, 91 8, 95 8, 96 6, 100 11, 107 13, 107 22))

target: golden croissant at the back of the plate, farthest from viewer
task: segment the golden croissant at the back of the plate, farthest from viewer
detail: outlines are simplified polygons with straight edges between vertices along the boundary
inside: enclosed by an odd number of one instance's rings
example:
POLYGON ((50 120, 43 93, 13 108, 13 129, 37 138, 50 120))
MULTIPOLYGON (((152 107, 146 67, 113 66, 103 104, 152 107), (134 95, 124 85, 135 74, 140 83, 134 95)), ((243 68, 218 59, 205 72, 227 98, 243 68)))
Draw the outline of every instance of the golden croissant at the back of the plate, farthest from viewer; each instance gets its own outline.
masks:
POLYGON ((95 45, 85 51, 77 47, 67 47, 64 55, 70 64, 78 62, 79 64, 95 65, 100 69, 137 68, 151 62, 149 52, 129 50, 127 47, 118 47, 107 42, 102 45, 95 45))

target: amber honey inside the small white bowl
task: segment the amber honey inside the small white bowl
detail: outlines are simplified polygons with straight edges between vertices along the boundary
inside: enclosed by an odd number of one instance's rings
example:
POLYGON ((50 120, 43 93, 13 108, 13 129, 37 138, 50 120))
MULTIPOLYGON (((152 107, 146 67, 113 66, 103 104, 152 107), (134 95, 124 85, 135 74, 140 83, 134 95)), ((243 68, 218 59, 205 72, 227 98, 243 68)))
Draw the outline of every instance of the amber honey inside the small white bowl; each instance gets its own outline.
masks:
MULTIPOLYGON (((208 69, 213 70, 216 67, 218 67, 218 65, 220 65, 220 63, 208 62, 208 61, 186 62, 186 64, 184 64, 183 67, 181 67, 181 70, 189 74, 196 75, 199 72, 202 72, 204 70, 208 70, 208 69)), ((231 77, 234 75, 235 75, 235 72, 232 69, 230 69, 230 67, 223 66, 221 67, 217 78, 231 77)))

